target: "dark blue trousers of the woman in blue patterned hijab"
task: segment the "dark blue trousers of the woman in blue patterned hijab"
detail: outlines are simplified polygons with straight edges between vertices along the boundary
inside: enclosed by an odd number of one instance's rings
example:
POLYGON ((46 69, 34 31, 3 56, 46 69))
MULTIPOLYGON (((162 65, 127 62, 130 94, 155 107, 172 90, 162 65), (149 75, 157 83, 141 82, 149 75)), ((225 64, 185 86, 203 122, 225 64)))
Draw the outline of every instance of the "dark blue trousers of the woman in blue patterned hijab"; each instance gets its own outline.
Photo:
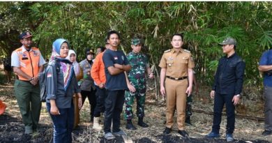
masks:
MULTIPOLYGON (((72 131, 73 131, 73 125, 74 125, 74 105, 73 102, 71 103, 70 108, 59 108, 58 115, 52 115, 51 119, 53 121, 53 128, 54 128, 54 135, 53 140, 54 143, 62 143, 72 142, 72 131)), ((46 103, 47 111, 50 112, 51 105, 50 103, 46 103)))

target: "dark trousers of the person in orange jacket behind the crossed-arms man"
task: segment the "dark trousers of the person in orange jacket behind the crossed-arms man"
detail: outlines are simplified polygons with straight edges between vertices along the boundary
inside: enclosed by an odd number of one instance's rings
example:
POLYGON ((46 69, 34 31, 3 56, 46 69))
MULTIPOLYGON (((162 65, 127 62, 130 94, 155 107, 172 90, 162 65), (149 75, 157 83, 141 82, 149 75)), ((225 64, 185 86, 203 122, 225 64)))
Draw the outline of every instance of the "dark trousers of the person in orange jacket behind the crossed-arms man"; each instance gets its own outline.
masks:
POLYGON ((106 89, 100 89, 96 86, 96 107, 93 116, 99 117, 101 112, 105 112, 105 98, 107 97, 106 89))

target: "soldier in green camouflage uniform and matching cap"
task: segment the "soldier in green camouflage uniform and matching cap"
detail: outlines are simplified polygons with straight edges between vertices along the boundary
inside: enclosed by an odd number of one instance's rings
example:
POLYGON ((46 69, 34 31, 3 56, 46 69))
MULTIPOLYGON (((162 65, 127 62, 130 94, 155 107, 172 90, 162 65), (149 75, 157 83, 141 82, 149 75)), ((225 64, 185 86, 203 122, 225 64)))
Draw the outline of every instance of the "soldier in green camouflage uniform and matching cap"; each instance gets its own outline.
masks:
POLYGON ((137 117, 138 125, 144 128, 148 127, 144 123, 144 102, 146 98, 146 73, 149 75, 149 78, 153 78, 153 73, 149 67, 149 63, 145 54, 140 53, 142 48, 142 43, 139 38, 133 38, 131 41, 131 47, 133 52, 130 52, 127 55, 128 61, 132 66, 131 70, 126 74, 126 80, 128 84, 128 89, 125 94, 125 119, 127 121, 126 128, 129 130, 136 130, 133 126, 133 103, 134 98, 137 100, 137 117))

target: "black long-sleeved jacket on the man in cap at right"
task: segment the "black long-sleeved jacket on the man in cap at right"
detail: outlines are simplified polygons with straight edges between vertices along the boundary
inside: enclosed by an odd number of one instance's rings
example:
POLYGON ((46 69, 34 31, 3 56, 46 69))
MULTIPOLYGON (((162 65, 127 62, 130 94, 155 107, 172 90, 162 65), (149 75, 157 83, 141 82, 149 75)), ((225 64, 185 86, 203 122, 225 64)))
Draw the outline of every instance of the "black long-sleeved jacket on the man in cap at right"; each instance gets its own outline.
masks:
POLYGON ((243 88, 245 62, 236 53, 219 60, 213 90, 220 94, 237 95, 243 88))

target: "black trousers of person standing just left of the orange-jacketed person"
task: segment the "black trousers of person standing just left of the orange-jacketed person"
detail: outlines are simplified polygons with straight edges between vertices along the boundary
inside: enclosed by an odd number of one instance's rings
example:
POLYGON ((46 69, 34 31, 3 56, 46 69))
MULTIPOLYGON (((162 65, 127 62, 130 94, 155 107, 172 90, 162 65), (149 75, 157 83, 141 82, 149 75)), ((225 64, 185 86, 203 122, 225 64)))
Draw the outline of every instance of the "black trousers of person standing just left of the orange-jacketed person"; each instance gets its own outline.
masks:
POLYGON ((94 108, 96 107, 96 91, 91 89, 91 91, 81 91, 81 95, 82 95, 82 106, 86 100, 86 98, 89 99, 89 104, 90 104, 90 108, 91 108, 91 121, 93 121, 93 112, 94 112, 94 108))

